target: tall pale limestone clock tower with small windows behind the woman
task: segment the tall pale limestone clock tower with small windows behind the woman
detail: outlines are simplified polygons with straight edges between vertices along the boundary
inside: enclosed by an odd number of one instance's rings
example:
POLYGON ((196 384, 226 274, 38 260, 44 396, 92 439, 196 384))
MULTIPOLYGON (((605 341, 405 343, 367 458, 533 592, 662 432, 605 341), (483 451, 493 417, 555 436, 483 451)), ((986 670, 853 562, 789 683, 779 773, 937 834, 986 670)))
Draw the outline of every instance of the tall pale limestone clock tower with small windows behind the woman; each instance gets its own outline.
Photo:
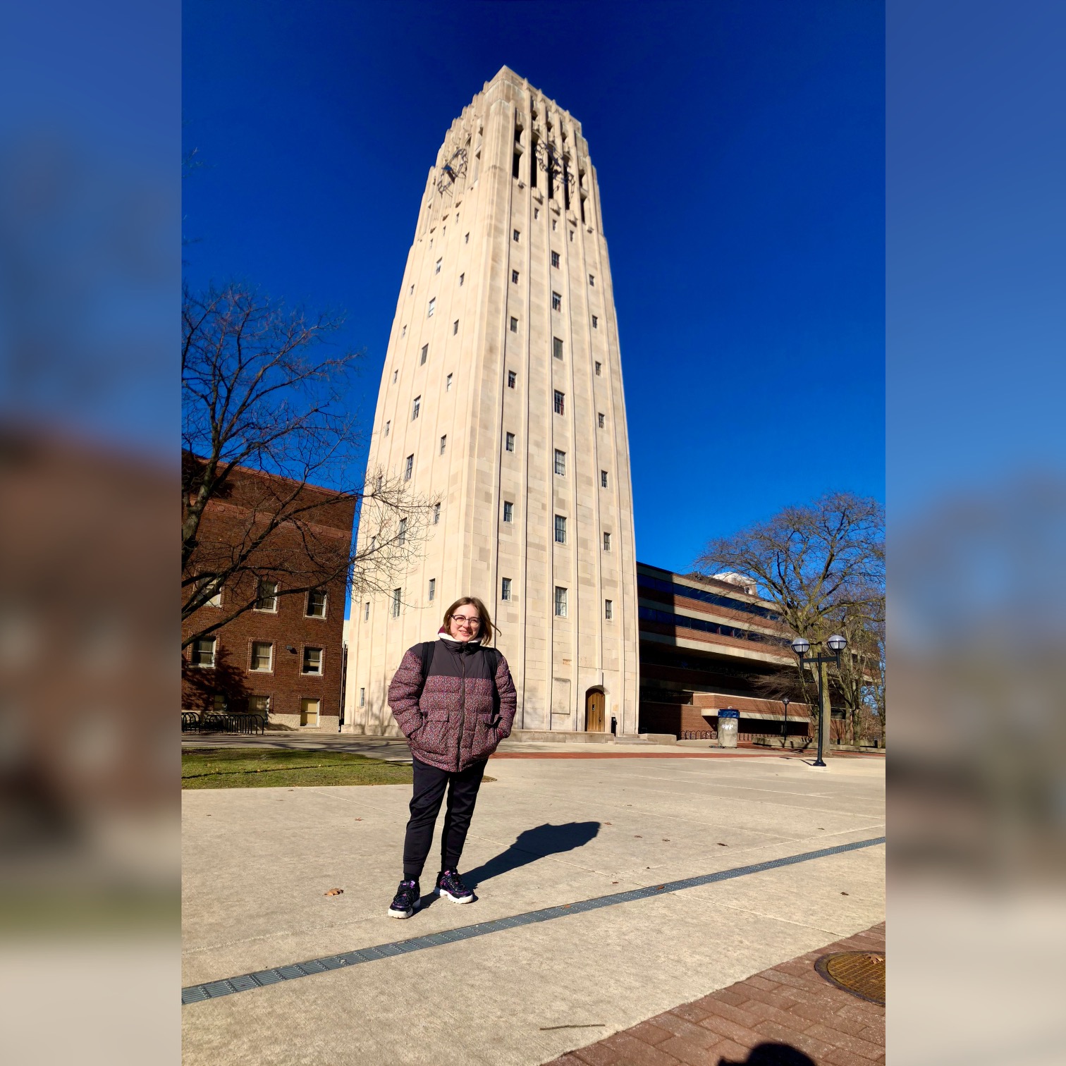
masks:
POLYGON ((406 477, 440 507, 399 597, 353 603, 344 729, 398 733, 403 652, 472 595, 511 665, 515 728, 636 732, 626 405, 581 124, 503 67, 445 136, 398 281, 368 478, 406 477))

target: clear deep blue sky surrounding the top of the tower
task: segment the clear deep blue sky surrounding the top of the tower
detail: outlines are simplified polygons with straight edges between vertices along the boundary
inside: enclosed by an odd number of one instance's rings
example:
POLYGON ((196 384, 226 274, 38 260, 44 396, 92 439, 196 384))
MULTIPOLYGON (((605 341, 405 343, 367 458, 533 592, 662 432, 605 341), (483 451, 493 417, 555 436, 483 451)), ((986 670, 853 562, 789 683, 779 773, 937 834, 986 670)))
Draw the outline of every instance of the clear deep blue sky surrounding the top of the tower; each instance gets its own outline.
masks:
POLYGON ((372 418, 419 197, 500 66, 599 177, 642 561, 884 499, 884 14, 786 3, 187 0, 193 284, 346 311, 372 418))

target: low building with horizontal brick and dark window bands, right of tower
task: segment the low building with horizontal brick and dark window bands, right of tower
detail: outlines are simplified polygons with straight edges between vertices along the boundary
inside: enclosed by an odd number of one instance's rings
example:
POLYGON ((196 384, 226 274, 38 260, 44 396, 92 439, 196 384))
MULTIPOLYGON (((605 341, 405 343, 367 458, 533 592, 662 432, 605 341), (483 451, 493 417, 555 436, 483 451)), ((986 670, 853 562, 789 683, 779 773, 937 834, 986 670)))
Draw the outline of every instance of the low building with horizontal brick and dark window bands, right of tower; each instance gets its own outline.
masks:
MULTIPOLYGON (((757 688, 760 675, 795 668, 790 636, 772 603, 740 578, 720 580, 636 564, 641 641, 641 731, 717 729, 717 712, 740 711, 742 737, 806 737, 806 704, 785 706, 757 688)), ((833 712, 840 740, 843 712, 833 712)))

